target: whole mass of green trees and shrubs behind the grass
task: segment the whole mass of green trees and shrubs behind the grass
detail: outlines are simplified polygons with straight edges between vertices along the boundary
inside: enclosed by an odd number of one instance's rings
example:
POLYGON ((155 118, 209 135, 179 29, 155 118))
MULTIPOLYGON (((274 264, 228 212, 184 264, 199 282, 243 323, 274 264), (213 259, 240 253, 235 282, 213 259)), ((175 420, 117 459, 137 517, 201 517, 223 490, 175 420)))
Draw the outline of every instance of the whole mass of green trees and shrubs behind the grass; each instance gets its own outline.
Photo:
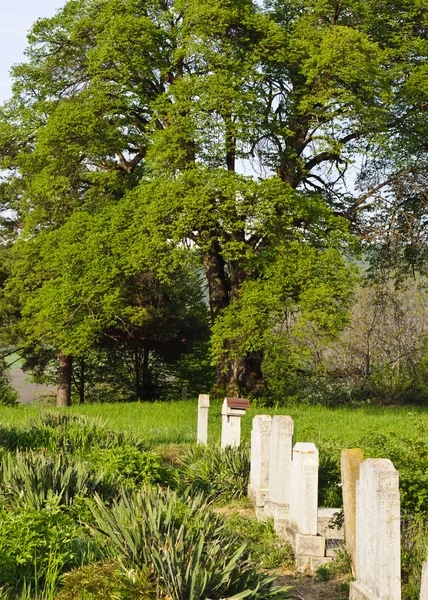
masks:
POLYGON ((427 8, 39 20, 0 110, 1 345, 62 405, 425 401, 427 8))

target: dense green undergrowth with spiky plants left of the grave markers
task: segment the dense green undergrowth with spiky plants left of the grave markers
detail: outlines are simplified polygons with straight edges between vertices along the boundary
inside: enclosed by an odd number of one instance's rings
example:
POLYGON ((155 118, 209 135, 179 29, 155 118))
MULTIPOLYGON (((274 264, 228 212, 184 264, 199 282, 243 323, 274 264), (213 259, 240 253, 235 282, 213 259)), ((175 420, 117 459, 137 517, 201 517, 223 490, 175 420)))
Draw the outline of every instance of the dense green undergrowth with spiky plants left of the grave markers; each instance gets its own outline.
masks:
POLYGON ((51 412, 1 427, 0 444, 1 600, 287 597, 255 540, 211 510, 244 495, 248 448, 172 465, 101 420, 51 412))

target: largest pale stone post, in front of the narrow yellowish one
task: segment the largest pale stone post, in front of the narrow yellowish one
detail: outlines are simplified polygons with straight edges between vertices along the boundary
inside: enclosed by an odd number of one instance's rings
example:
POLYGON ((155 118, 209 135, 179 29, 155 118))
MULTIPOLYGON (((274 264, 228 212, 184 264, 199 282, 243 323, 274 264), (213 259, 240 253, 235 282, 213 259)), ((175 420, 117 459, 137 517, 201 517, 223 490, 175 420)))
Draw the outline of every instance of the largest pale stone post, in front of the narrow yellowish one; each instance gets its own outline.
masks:
POLYGON ((400 494, 389 459, 366 459, 357 483, 356 581, 350 600, 401 600, 400 494))

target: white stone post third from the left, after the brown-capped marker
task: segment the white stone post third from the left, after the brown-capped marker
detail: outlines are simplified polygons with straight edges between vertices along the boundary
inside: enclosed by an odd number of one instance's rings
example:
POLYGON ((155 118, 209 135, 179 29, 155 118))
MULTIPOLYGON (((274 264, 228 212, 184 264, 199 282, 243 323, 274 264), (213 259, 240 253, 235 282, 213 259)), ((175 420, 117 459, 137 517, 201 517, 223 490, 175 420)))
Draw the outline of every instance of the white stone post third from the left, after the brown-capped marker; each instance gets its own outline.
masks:
POLYGON ((272 429, 272 417, 257 415, 253 419, 251 430, 251 466, 248 497, 256 512, 264 506, 269 485, 269 446, 272 429))

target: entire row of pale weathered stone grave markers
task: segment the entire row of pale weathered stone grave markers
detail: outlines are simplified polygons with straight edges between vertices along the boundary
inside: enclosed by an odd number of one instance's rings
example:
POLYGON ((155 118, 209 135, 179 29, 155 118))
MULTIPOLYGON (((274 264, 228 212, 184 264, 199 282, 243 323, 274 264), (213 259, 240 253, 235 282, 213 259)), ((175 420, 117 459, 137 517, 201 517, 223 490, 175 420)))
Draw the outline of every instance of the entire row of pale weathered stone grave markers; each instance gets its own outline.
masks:
MULTIPOLYGON (((249 402, 225 398, 221 444, 239 446, 240 420, 249 402)), ((198 443, 208 441, 209 396, 199 396, 198 443)), ((332 560, 329 542, 341 532, 329 523, 339 509, 318 508, 318 450, 297 442, 289 416, 257 415, 251 431, 248 496, 259 519, 272 517, 275 530, 295 552, 300 571, 314 572, 332 560)), ((359 448, 341 455, 346 547, 355 581, 350 600, 401 600, 399 474, 389 459, 364 460, 359 448)), ((420 600, 428 600, 428 562, 420 600)))

